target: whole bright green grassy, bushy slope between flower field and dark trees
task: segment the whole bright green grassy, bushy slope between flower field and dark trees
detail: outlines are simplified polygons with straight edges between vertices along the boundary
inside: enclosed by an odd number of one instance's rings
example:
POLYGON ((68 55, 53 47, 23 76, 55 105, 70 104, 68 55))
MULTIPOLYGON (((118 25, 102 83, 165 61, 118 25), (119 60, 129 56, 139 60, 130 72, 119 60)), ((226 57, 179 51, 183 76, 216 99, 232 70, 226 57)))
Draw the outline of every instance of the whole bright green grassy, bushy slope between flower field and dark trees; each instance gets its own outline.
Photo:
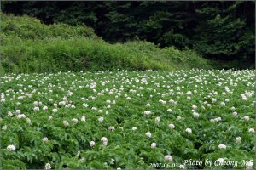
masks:
POLYGON ((190 50, 149 42, 109 44, 86 26, 46 26, 28 16, 1 14, 1 72, 211 68, 190 50))

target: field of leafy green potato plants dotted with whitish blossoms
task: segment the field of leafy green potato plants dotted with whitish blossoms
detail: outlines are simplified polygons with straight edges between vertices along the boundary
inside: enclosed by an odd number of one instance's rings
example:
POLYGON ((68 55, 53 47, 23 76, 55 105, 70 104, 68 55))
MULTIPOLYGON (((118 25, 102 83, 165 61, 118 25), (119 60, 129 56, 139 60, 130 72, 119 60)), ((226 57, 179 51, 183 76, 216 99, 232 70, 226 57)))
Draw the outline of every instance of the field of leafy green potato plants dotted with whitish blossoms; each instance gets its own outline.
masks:
POLYGON ((253 70, 8 74, 0 82, 3 169, 253 168, 253 70))

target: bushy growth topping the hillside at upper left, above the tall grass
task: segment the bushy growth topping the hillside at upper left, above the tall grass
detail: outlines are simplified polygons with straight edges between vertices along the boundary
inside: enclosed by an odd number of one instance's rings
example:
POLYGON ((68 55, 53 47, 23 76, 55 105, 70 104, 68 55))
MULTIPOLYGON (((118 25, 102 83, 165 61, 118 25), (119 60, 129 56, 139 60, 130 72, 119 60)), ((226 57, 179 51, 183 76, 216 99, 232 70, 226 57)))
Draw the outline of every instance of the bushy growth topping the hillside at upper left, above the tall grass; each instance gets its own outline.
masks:
POLYGON ((35 41, 50 38, 99 38, 94 33, 94 30, 87 26, 44 25, 40 23, 40 20, 32 17, 26 15, 17 17, 12 14, 1 14, 0 36, 3 39, 3 44, 9 42, 10 37, 20 37, 21 39, 35 41))

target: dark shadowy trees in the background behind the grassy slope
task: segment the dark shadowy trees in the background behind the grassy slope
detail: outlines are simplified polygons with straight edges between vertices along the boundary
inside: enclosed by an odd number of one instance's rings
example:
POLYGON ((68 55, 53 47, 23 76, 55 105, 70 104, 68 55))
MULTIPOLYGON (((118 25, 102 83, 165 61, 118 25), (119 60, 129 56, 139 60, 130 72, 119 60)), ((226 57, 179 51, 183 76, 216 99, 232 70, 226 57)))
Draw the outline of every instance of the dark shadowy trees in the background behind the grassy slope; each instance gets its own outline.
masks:
POLYGON ((85 24, 108 42, 147 40, 210 59, 253 62, 255 2, 2 2, 2 11, 46 24, 85 24))

